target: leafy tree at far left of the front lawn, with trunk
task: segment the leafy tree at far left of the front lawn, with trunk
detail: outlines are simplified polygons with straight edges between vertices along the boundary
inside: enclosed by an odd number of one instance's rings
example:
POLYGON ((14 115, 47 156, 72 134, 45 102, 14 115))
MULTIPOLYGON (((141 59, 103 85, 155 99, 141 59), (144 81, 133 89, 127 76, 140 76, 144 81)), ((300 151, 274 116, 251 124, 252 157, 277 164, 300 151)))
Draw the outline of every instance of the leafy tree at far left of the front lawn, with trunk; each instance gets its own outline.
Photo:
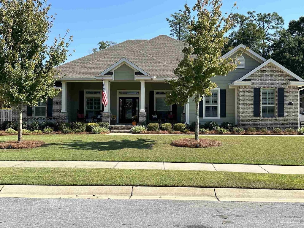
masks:
POLYGON ((0 94, 17 106, 18 142, 22 142, 22 105, 54 97, 54 68, 67 60, 72 36, 47 45, 54 16, 44 0, 0 0, 0 94))

